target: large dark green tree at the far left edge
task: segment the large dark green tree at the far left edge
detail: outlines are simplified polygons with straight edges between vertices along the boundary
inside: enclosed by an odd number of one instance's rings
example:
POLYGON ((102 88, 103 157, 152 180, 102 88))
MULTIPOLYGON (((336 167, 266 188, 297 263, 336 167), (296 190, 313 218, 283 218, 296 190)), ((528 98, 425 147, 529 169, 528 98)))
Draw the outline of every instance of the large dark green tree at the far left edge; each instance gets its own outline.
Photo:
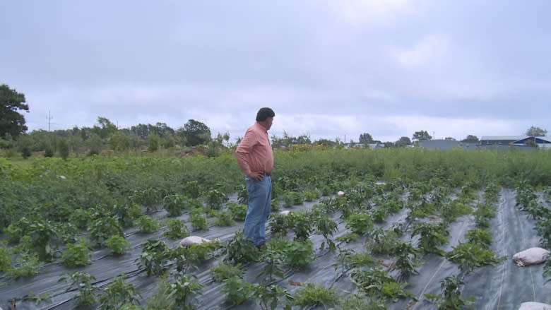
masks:
POLYGON ((13 138, 17 138, 27 131, 25 117, 18 112, 29 112, 29 106, 24 102, 23 93, 12 90, 6 84, 0 85, 0 137, 9 133, 13 138))

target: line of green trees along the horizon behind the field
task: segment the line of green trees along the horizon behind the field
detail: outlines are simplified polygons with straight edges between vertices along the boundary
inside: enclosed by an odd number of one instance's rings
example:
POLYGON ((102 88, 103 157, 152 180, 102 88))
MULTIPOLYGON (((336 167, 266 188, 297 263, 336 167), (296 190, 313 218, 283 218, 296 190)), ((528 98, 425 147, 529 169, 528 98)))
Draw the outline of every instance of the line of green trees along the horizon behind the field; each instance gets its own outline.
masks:
MULTIPOLYGON (((59 153, 66 158, 71 150, 82 150, 88 154, 98 154, 103 149, 127 151, 147 149, 155 151, 160 148, 183 148, 206 145, 208 150, 214 152, 219 148, 235 146, 230 143, 229 133, 217 133, 211 135, 211 129, 201 121, 189 119, 184 126, 172 129, 165 123, 138 124, 128 129, 119 129, 105 117, 97 117, 97 124, 92 127, 74 126, 72 129, 45 131, 35 130, 27 133, 25 117, 21 112, 29 112, 29 106, 25 103, 25 95, 9 88, 8 85, 0 85, 0 149, 11 152, 20 152, 23 157, 28 157, 32 152, 44 152, 46 156, 59 153)), ((545 136, 547 130, 532 126, 526 131, 527 136, 545 136)), ((455 138, 446 137, 447 140, 455 138)), ((283 136, 271 136, 274 147, 289 147, 290 145, 324 145, 327 147, 344 147, 345 143, 336 138, 331 141, 321 138, 311 141, 308 135, 292 136, 283 131, 283 136)), ((381 142, 375 140, 371 134, 362 133, 357 142, 350 140, 347 145, 384 145, 384 147, 406 147, 413 145, 415 141, 432 140, 427 131, 415 131, 411 138, 403 136, 398 141, 381 142)), ((237 138, 239 143, 240 138, 237 138)), ((478 142, 478 137, 468 135, 463 142, 478 142)))

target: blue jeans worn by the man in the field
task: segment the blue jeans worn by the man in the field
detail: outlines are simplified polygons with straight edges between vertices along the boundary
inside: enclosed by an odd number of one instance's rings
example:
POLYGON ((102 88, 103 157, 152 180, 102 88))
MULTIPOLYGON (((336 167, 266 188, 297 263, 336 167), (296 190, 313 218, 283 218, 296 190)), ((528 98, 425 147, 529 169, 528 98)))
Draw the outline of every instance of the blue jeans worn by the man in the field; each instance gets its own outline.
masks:
POLYGON ((272 179, 265 175, 261 181, 245 177, 249 193, 249 210, 244 222, 244 237, 255 246, 266 243, 266 221, 271 210, 272 179))

